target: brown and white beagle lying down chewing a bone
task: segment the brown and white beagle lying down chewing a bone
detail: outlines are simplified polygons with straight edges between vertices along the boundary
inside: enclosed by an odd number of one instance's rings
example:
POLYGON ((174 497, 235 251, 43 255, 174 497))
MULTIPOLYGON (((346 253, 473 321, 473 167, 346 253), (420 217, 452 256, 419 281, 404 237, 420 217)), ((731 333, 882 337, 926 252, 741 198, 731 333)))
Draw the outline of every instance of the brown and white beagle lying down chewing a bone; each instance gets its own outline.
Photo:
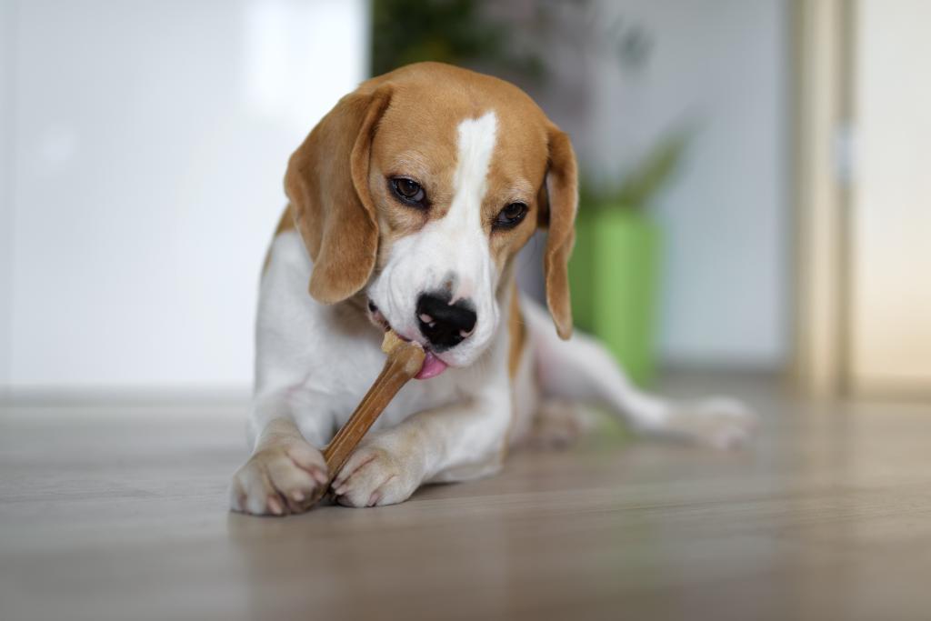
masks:
POLYGON ((389 327, 424 345, 425 364, 337 474, 346 506, 497 472, 553 398, 598 402, 645 432, 745 438, 739 403, 644 394, 600 344, 572 336, 577 180, 568 136, 488 75, 413 64, 340 100, 285 176, 260 290, 252 453, 232 508, 306 510, 327 480, 320 450, 381 370, 389 327), (518 250, 539 228, 548 317, 515 286, 518 250))

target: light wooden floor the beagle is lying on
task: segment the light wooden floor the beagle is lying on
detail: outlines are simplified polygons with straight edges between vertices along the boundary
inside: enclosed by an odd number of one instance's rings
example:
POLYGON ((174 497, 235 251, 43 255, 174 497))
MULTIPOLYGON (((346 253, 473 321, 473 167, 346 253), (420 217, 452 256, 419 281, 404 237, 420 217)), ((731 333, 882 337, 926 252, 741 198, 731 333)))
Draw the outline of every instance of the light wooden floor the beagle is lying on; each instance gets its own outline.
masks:
POLYGON ((762 412, 749 450, 606 428, 401 506, 226 512, 245 407, 0 414, 0 619, 931 619, 931 405, 762 412))

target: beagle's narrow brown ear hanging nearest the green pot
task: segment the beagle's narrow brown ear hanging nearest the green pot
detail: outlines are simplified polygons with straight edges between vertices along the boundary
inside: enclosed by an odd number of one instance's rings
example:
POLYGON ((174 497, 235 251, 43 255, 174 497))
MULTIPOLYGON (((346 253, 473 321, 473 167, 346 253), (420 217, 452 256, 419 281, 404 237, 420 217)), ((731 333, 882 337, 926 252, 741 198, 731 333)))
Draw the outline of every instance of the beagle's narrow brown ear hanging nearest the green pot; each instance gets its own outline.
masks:
POLYGON ((575 242, 575 211, 578 209, 578 171, 569 136, 555 126, 549 130, 549 161, 546 169, 546 209, 541 226, 549 228, 543 258, 546 305, 562 339, 573 334, 573 309, 569 297, 569 256, 575 242))

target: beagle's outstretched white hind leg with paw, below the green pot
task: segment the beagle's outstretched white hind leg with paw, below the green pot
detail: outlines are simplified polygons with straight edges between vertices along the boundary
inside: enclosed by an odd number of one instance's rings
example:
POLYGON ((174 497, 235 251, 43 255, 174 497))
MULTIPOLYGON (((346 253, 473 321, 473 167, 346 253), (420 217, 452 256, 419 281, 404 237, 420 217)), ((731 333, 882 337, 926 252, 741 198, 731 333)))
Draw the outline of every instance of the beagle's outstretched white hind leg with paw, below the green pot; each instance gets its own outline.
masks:
POLYGON ((644 392, 598 341, 578 331, 562 341, 539 304, 523 298, 520 306, 533 338, 543 398, 607 407, 634 430, 651 435, 718 448, 749 439, 756 416, 740 401, 717 397, 680 402, 644 392))

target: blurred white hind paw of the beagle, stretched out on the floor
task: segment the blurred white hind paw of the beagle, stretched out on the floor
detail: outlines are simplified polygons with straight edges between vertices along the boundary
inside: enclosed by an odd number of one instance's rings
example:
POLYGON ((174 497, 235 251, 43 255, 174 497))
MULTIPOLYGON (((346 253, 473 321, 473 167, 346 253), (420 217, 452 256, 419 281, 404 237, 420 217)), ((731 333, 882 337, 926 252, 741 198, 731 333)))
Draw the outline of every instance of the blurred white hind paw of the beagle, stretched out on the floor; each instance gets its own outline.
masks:
POLYGON ((735 449, 753 436, 757 415, 735 398, 704 398, 677 407, 668 430, 716 449, 735 449))

